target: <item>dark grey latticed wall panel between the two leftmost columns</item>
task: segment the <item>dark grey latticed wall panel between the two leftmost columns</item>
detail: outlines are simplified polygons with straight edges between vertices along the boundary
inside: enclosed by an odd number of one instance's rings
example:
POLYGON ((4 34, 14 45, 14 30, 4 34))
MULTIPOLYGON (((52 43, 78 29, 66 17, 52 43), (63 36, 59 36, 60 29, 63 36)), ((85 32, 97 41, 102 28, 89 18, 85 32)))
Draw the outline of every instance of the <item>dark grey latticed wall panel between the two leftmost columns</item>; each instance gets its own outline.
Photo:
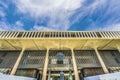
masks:
POLYGON ((25 51, 18 68, 43 68, 46 51, 25 51))

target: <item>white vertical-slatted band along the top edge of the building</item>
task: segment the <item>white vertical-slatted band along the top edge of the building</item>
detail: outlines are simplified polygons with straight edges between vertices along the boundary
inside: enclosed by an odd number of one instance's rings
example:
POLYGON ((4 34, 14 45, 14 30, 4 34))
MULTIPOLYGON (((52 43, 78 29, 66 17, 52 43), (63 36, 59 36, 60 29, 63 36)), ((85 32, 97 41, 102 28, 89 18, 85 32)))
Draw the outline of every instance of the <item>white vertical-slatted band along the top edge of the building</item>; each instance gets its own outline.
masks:
POLYGON ((120 31, 0 31, 0 38, 120 38, 120 31))

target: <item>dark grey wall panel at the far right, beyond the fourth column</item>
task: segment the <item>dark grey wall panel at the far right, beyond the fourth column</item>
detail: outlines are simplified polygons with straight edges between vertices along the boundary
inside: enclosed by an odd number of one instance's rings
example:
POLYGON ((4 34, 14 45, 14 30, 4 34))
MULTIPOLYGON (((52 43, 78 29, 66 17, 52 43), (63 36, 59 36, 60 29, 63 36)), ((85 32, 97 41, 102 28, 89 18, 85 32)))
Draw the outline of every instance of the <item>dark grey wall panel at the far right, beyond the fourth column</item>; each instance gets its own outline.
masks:
POLYGON ((99 52, 110 72, 120 72, 120 53, 117 50, 99 52))

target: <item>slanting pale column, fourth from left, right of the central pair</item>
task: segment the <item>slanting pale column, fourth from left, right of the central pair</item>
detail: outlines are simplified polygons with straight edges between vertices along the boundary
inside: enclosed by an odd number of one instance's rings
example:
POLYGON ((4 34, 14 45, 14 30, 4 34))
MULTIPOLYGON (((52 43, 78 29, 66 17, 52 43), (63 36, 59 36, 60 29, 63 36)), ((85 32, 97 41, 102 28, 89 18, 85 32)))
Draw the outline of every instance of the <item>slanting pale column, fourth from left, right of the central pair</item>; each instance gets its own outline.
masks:
POLYGON ((107 69, 105 63, 103 62, 102 57, 100 56, 100 54, 99 54, 97 48, 95 48, 95 53, 96 53, 97 58, 98 58, 98 60, 99 60, 99 62, 100 62, 100 64, 101 64, 101 66, 102 66, 102 68, 103 68, 104 73, 106 73, 106 74, 109 73, 109 71, 108 71, 108 69, 107 69))

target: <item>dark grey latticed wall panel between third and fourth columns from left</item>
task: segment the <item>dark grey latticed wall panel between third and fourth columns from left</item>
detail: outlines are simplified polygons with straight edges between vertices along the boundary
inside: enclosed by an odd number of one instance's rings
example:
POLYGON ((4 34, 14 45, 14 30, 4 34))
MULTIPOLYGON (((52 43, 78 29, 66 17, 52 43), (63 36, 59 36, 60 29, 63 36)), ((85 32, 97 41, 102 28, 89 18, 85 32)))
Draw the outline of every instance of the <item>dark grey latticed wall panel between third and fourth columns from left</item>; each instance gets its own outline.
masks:
POLYGON ((78 68, 101 67, 93 50, 74 50, 78 68))

